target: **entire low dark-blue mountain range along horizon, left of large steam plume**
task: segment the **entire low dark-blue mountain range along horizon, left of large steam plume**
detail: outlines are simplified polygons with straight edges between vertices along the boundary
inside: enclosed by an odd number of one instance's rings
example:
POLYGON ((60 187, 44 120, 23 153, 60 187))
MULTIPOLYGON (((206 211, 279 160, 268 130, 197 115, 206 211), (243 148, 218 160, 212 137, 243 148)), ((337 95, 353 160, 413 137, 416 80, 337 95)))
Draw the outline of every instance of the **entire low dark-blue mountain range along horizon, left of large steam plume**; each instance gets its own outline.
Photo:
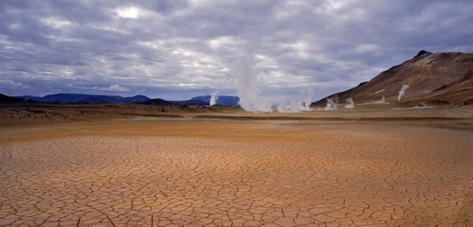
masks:
MULTIPOLYGON (((1 94, 0 94, 1 95, 1 94)), ((217 105, 220 106, 238 106, 240 99, 235 96, 222 95, 217 98, 217 105)), ((135 95, 133 97, 121 97, 118 95, 85 95, 85 94, 54 94, 36 97, 23 95, 9 97, 0 96, 0 102, 67 102, 67 103, 90 103, 90 104, 149 104, 149 105, 190 105, 205 106, 210 104, 210 95, 193 97, 189 100, 168 101, 165 99, 151 99, 144 95, 135 95)))

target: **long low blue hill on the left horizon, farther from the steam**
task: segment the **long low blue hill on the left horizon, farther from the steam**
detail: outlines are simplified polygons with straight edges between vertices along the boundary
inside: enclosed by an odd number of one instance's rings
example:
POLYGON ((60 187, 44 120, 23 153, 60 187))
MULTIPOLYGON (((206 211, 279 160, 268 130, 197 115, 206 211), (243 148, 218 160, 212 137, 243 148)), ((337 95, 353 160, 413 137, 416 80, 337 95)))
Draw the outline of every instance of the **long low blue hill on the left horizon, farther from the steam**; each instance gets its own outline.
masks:
POLYGON ((144 95, 135 95, 133 97, 121 97, 118 95, 84 95, 84 94, 54 94, 43 97, 19 96, 20 99, 30 99, 36 102, 72 102, 72 103, 93 103, 93 104, 128 104, 144 102, 149 97, 144 95))

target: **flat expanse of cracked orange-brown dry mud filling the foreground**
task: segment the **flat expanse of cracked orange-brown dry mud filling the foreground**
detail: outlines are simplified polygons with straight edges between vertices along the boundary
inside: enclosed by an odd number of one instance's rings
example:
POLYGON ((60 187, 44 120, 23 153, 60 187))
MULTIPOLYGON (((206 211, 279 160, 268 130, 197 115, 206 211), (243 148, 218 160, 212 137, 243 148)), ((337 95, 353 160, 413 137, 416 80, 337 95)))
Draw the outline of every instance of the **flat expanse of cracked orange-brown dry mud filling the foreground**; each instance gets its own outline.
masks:
POLYGON ((1 128, 0 226, 472 226, 472 131, 135 119, 1 128))

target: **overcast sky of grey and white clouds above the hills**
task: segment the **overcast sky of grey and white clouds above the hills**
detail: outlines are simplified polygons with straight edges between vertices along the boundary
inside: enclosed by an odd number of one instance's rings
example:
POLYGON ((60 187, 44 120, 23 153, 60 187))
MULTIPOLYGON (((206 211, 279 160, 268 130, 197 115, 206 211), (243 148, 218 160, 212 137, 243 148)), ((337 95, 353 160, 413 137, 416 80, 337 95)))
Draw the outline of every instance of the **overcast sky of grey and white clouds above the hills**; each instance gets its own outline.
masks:
POLYGON ((419 50, 472 52, 472 1, 0 2, 1 93, 261 95, 352 88, 419 50), (240 78, 241 80, 241 78, 240 78))

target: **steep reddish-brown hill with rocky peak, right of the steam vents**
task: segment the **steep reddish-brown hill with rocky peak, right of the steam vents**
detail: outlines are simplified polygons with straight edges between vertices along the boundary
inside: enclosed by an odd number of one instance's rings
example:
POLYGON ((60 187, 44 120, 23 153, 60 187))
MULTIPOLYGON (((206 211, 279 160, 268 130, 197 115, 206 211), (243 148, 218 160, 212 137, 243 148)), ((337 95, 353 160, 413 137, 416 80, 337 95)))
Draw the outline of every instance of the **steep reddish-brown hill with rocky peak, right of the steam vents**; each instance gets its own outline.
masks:
MULTIPOLYGON (((381 72, 355 88, 338 92, 340 103, 352 98, 355 103, 385 102, 404 104, 472 104, 473 53, 430 53, 421 50, 411 60, 381 72), (402 87, 404 96, 398 102, 402 87)), ((313 102, 324 106, 327 98, 313 102)))

